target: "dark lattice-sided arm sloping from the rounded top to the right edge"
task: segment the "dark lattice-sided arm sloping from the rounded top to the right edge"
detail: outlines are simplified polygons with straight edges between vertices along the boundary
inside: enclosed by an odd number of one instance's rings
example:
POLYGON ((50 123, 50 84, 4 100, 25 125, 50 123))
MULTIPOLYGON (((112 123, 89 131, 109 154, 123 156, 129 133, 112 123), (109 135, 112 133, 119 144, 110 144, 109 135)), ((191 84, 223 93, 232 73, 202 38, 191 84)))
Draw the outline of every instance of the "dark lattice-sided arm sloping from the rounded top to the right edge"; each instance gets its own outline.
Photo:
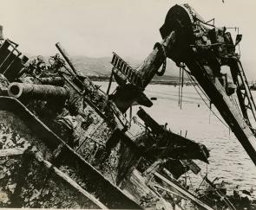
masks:
POLYGON ((175 5, 168 11, 161 27, 162 37, 166 37, 172 30, 178 32, 176 43, 181 48, 170 51, 167 57, 176 63, 186 64, 256 165, 255 131, 247 114, 250 110, 255 117, 255 104, 240 63, 240 56, 235 54, 231 34, 226 32, 225 27, 207 25, 187 4, 175 5), (229 97, 235 90, 228 90, 228 84, 224 80, 226 74, 221 73, 222 67, 226 66, 230 67, 233 83, 237 86, 236 92, 243 116, 229 97))

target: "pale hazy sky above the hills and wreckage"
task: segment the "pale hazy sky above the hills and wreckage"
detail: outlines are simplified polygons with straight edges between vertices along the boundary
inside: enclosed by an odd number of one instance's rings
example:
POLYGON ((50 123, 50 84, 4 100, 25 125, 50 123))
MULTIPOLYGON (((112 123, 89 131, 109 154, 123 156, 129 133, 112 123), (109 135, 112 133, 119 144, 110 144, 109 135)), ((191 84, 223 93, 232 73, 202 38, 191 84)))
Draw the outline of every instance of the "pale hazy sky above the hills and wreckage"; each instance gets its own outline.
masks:
MULTIPOLYGON (((28 55, 56 54, 60 41, 70 55, 106 57, 115 51, 143 60, 161 41, 159 29, 167 10, 189 3, 206 21, 214 17, 216 26, 239 27, 241 60, 246 66, 256 64, 256 1, 224 1, 0 0, 0 24, 4 37, 19 43, 28 55)), ((253 76, 256 79, 256 71, 253 76)))

